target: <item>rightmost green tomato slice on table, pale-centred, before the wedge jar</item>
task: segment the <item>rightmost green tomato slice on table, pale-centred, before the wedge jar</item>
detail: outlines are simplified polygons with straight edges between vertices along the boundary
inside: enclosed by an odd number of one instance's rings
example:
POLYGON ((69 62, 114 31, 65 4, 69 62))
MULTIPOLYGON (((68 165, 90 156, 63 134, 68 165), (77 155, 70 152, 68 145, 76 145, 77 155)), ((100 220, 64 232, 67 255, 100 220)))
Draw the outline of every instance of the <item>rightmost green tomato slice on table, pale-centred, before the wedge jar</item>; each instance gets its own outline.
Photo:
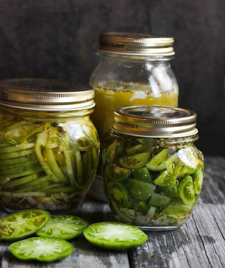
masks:
POLYGON ((99 222, 84 230, 93 245, 108 250, 127 250, 143 244, 148 236, 133 225, 119 222, 99 222))

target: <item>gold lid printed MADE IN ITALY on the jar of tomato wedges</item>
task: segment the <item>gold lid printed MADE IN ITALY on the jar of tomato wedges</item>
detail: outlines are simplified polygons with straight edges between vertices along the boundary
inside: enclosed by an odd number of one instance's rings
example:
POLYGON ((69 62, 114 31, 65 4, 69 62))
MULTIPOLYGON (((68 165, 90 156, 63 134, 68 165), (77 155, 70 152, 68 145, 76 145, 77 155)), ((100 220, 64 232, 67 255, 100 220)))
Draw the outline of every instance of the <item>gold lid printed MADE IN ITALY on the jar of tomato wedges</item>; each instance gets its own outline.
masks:
POLYGON ((140 137, 172 138, 194 135, 197 115, 169 106, 135 105, 114 111, 112 130, 140 137))

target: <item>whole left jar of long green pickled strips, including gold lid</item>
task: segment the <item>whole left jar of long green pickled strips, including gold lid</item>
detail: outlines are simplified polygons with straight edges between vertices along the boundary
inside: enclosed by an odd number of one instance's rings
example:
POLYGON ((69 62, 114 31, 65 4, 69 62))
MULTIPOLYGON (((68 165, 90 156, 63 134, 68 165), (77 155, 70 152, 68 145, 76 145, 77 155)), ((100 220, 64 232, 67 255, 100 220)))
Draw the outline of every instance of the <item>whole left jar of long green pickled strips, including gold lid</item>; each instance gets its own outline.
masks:
POLYGON ((9 212, 71 214, 96 173, 99 139, 91 86, 60 80, 0 81, 0 202, 9 212))

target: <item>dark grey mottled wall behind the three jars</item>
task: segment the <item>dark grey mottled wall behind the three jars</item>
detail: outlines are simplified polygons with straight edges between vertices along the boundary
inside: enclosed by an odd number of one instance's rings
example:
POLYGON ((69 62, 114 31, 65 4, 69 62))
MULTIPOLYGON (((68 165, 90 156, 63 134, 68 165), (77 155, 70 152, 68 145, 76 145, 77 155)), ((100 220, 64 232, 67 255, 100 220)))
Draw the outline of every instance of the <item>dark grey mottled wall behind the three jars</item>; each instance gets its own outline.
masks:
POLYGON ((99 32, 172 35, 179 106, 197 113, 197 147, 224 155, 222 1, 0 0, 0 79, 87 83, 98 63, 99 32))

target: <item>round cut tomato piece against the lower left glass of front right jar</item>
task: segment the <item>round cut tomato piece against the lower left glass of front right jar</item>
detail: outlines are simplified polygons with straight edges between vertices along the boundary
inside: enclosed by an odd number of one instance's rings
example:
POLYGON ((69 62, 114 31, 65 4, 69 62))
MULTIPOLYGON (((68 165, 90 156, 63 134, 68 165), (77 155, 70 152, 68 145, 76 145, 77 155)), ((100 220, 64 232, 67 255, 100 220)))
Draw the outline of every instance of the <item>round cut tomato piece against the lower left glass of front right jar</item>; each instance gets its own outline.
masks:
POLYGON ((128 203, 128 191, 120 182, 110 181, 107 185, 107 192, 109 199, 118 207, 125 207, 128 203))

